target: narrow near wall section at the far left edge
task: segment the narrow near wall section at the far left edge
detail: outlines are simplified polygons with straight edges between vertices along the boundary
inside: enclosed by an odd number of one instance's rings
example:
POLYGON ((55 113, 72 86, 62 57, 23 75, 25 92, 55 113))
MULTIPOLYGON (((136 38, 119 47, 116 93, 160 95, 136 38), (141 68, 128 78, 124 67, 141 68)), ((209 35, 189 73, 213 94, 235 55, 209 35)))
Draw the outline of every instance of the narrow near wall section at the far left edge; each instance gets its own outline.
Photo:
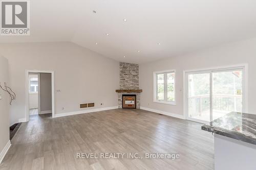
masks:
MULTIPOLYGON (((1 86, 7 83, 7 86, 11 87, 9 84, 9 74, 8 74, 8 60, 0 56, 0 82, 1 86)), ((4 88, 4 87, 3 87, 4 88)), ((9 135, 9 102, 10 96, 7 92, 0 88, 0 94, 2 95, 2 100, 0 100, 0 163, 4 155, 4 148, 7 142, 10 140, 9 135)))

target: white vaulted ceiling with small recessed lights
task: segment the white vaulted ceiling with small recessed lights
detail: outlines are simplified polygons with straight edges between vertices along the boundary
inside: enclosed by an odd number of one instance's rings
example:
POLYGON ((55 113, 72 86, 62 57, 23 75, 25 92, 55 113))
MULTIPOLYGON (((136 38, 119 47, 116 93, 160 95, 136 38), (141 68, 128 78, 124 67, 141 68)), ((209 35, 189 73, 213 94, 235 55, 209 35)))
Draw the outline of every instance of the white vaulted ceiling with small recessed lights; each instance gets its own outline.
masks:
POLYGON ((255 18, 255 0, 33 0, 31 35, 0 42, 71 41, 144 63, 255 37, 255 18))

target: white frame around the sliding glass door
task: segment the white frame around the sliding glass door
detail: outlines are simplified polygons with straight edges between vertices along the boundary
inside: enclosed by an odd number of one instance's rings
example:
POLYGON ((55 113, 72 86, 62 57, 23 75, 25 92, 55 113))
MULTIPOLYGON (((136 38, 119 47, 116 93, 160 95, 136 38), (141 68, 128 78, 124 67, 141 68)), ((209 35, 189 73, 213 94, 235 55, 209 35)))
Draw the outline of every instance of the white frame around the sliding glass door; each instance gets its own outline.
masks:
MULTIPOLYGON (((226 65, 226 66, 219 66, 219 67, 209 67, 209 68, 200 68, 200 69, 190 69, 190 70, 183 70, 183 114, 185 115, 185 118, 187 120, 192 120, 194 122, 199 123, 208 123, 204 120, 198 120, 194 118, 190 118, 187 111, 187 92, 188 92, 188 83, 187 83, 187 73, 189 72, 211 72, 211 71, 218 71, 218 70, 229 70, 229 69, 243 69, 243 112, 248 113, 248 63, 243 64, 237 64, 237 65, 226 65), (244 104, 245 103, 245 104, 244 104)), ((210 74, 210 83, 212 81, 211 74, 210 74)), ((210 87, 210 95, 212 93, 212 87, 210 87)), ((212 100, 212 97, 210 96, 210 100, 212 100)), ((212 101, 210 106, 212 106, 212 101)))

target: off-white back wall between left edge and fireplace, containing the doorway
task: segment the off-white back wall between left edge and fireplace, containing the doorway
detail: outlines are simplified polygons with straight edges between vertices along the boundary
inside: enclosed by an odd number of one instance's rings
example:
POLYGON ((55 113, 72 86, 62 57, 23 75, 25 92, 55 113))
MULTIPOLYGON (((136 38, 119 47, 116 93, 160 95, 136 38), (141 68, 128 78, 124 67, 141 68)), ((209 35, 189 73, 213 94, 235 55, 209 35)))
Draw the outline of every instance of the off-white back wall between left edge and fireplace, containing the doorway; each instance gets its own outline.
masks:
POLYGON ((11 124, 26 118, 26 69, 54 71, 55 114, 87 110, 79 108, 81 103, 94 102, 94 108, 118 105, 119 62, 87 48, 71 42, 7 43, 0 44, 0 54, 9 59, 10 82, 17 93, 11 124))

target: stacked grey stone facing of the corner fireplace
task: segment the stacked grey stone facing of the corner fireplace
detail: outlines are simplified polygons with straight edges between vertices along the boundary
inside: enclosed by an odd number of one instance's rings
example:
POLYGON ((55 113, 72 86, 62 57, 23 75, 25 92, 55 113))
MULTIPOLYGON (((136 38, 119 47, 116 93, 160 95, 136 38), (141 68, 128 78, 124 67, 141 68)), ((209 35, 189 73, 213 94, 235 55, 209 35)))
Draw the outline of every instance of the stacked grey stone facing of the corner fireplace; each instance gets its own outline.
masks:
MULTIPOLYGON (((120 89, 139 89, 139 64, 120 62, 119 67, 120 89)), ((140 93, 118 93, 118 108, 122 108, 122 94, 136 94, 136 108, 140 108, 140 93)))

